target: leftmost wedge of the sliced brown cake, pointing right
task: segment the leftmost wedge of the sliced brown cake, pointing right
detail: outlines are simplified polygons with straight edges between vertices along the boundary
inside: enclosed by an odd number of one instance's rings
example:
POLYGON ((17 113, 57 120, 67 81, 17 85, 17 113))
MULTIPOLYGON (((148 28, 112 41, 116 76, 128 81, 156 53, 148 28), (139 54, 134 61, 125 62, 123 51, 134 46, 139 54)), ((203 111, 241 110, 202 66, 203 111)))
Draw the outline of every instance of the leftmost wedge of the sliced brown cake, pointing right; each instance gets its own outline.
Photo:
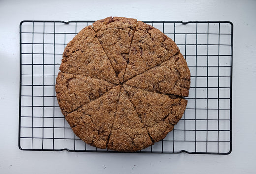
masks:
POLYGON ((66 115, 103 95, 114 86, 107 81, 59 72, 55 90, 62 113, 66 115))

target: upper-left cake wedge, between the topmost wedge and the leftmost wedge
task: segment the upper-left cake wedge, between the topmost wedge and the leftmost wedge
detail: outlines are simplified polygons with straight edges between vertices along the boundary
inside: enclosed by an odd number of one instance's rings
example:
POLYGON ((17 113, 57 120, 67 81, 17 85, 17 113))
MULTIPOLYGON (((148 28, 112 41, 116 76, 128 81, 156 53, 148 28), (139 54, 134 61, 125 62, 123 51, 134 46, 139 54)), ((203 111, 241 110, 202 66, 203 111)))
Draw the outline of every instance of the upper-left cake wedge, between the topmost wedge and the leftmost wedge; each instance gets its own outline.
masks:
POLYGON ((82 29, 64 52, 60 65, 64 73, 85 75, 118 84, 119 80, 91 25, 82 29))

